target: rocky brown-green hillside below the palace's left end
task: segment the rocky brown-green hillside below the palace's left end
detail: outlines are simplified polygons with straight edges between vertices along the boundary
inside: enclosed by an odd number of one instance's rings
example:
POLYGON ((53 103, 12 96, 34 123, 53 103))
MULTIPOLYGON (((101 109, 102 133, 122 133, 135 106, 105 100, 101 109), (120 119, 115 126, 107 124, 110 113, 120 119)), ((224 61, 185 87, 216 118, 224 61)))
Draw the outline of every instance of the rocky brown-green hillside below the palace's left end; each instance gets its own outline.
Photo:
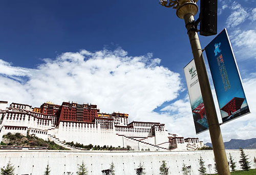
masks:
POLYGON ((24 136, 20 133, 11 134, 8 133, 3 136, 3 140, 1 142, 1 145, 10 145, 10 146, 42 146, 42 147, 48 147, 48 149, 52 150, 68 150, 65 147, 62 147, 53 141, 46 141, 43 139, 40 139, 34 135, 24 136))

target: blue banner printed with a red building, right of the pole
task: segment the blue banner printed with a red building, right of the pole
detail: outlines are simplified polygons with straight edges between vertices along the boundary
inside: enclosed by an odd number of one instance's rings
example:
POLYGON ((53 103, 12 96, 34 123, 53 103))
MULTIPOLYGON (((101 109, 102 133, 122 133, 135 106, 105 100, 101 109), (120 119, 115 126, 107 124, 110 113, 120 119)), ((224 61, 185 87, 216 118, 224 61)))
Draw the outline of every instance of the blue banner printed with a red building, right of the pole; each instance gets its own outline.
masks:
POLYGON ((250 113, 227 30, 205 47, 222 122, 250 113))

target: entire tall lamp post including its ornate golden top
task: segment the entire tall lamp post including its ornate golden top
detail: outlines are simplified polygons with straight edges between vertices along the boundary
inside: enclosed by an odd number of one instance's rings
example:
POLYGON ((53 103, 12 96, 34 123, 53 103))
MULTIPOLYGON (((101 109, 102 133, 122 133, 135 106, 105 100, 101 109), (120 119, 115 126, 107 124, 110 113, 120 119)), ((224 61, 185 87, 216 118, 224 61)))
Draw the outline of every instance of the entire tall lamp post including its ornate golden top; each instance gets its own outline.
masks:
POLYGON ((185 20, 185 27, 187 29, 187 34, 197 68, 198 80, 203 97, 218 174, 230 175, 220 125, 214 105, 214 99, 212 98, 210 84, 204 64, 202 48, 197 34, 196 22, 194 20, 194 16, 198 12, 198 6, 196 4, 197 1, 198 0, 160 0, 159 4, 164 7, 172 7, 173 9, 176 9, 176 15, 179 18, 185 20))

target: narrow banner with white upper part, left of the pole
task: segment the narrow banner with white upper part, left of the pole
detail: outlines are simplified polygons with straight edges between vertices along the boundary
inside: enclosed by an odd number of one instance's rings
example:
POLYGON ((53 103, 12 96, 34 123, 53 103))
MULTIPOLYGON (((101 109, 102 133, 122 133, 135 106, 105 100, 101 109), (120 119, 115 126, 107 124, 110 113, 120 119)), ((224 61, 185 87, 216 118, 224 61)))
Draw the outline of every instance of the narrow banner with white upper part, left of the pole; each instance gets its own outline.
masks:
POLYGON ((199 134, 208 129, 208 123, 205 115, 203 97, 201 94, 194 59, 184 67, 184 73, 187 82, 187 90, 193 113, 196 133, 199 134))

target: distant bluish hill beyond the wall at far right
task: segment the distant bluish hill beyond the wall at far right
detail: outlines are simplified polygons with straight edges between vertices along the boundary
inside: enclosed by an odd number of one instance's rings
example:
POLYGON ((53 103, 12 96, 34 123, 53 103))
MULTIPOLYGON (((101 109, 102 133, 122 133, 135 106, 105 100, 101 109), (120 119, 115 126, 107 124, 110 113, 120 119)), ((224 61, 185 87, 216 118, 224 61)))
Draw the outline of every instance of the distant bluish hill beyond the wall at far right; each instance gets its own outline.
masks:
MULTIPOLYGON (((206 143, 207 146, 212 147, 211 143, 206 143)), ((224 142, 225 149, 256 149, 256 138, 242 140, 242 139, 231 139, 228 142, 224 142)))

